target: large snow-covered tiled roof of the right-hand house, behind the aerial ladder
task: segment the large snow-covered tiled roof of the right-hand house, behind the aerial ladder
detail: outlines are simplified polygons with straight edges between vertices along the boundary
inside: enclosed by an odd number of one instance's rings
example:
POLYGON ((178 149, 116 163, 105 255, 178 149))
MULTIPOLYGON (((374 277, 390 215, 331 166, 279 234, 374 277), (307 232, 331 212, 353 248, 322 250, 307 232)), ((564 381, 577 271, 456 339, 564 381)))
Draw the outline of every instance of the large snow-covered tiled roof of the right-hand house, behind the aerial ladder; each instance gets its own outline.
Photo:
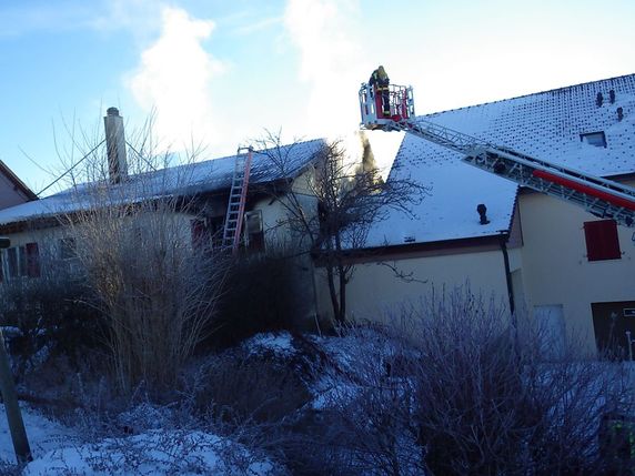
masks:
MULTIPOLYGON (((635 74, 423 117, 456 131, 588 174, 635 172, 635 74), (615 100, 611 102, 611 91, 615 100), (603 95, 597 105, 597 93, 603 95), (623 119, 618 120, 617 109, 623 119), (581 134, 603 131, 606 148, 581 134)), ((389 180, 411 176, 432 188, 414 207, 377 223, 366 245, 404 244, 491 236, 511 225, 517 186, 461 162, 461 154, 405 134, 389 180), (491 223, 481 225, 476 206, 487 206, 491 223)))

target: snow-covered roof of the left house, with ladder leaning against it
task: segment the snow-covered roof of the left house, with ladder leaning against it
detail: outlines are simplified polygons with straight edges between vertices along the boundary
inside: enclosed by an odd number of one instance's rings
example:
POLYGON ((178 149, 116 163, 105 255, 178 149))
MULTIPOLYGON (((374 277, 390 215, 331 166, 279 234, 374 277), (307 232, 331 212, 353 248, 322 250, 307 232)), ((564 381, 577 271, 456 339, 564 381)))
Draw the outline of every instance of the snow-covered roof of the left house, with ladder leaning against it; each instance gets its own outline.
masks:
MULTIPOLYGON (((278 150, 254 151, 250 183, 264 184, 295 178, 311 163, 323 144, 322 139, 315 139, 283 145, 278 150)), ((109 185, 109 196, 133 203, 167 194, 194 195, 229 190, 235 159, 235 155, 230 155, 131 175, 120 184, 109 185)), ((78 185, 46 199, 0 210, 0 225, 85 209, 92 201, 82 198, 82 191, 89 186, 94 190, 93 185, 78 185)))

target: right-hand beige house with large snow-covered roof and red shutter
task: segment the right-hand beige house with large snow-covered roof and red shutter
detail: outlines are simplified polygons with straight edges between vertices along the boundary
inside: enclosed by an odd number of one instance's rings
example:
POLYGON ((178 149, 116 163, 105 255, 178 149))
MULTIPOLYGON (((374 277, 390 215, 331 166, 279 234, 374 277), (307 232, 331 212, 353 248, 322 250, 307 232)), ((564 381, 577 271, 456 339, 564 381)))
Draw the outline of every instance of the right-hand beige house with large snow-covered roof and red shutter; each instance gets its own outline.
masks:
MULTIPOLYGON (((635 185, 635 74, 424 118, 635 185)), ((405 135, 389 180, 417 178, 431 195, 413 210, 416 219, 391 212, 376 223, 364 250, 351 257, 356 263, 347 287, 351 314, 381 318, 404 302, 468 282, 472 291, 533 316, 551 331, 556 347, 575 333, 589 351, 609 343, 627 350, 628 335, 635 336, 633 230, 460 159, 405 135)))

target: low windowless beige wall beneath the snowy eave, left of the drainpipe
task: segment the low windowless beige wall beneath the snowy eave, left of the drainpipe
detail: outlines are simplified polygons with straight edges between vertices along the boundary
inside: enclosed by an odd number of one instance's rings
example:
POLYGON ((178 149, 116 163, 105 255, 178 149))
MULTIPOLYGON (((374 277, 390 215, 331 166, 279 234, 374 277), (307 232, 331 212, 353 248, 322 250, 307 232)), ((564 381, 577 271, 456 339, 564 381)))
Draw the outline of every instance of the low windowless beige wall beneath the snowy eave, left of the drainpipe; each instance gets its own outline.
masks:
MULTIPOLYGON (((503 253, 496 246, 473 247, 458 254, 425 256, 424 253, 387 260, 384 264, 372 262, 357 264, 347 286, 349 315, 357 320, 382 320, 386 313, 399 311, 403 303, 416 303, 433 292, 452 290, 470 284, 472 292, 490 297, 507 306, 507 284, 503 253), (392 269, 391 269, 392 267, 392 269), (395 271, 413 280, 397 277, 395 271)), ((320 315, 332 315, 324 273, 319 286, 320 315)))

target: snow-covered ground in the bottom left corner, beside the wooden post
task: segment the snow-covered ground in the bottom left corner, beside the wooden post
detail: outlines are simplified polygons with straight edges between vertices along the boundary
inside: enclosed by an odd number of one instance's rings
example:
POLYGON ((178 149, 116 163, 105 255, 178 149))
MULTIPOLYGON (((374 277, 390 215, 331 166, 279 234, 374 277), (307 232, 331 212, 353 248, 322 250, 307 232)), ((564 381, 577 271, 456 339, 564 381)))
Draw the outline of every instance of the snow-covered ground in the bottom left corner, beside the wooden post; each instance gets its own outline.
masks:
MULTIPOLYGON (((16 462, 4 406, 0 405, 0 460, 16 462)), ((200 431, 149 431, 134 436, 80 443, 77 433, 22 406, 34 460, 24 476, 44 475, 253 475, 275 474, 268 460, 200 431)), ((1 467, 0 467, 1 469, 1 467)))

